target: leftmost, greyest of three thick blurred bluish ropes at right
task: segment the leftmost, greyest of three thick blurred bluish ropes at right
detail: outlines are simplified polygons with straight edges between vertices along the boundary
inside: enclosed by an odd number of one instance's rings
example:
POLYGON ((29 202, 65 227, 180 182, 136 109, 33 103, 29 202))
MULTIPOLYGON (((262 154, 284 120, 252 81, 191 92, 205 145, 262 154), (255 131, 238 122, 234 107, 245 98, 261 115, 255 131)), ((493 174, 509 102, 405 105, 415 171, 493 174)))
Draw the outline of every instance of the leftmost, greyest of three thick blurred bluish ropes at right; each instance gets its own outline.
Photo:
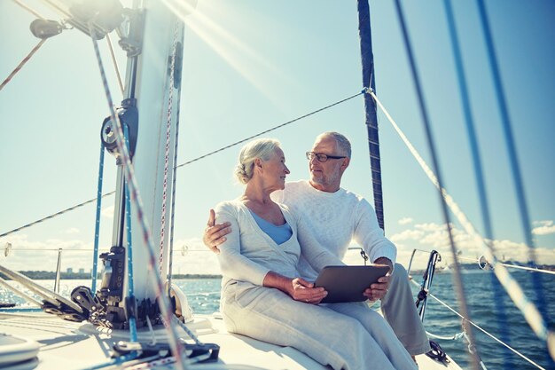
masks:
MULTIPOLYGON (((396 7, 396 11, 397 11, 397 17, 399 19, 399 23, 401 25, 401 30, 403 33, 403 42, 405 45, 405 49, 407 51, 407 55, 409 58, 409 65, 410 65, 410 71, 412 74, 412 78, 414 79, 414 84, 415 84, 415 89, 417 91, 417 96, 418 96, 418 106, 420 107, 420 114, 422 115, 422 122, 424 123, 424 129, 426 132, 426 142, 427 142, 427 146, 428 149, 430 150, 430 154, 432 157, 432 163, 433 163, 433 169, 435 172, 435 177, 437 178, 437 183, 438 183, 438 195, 440 197, 440 204, 441 204, 441 208, 442 208, 442 216, 443 216, 443 220, 445 221, 446 227, 447 227, 447 232, 449 234, 449 245, 451 247, 451 253, 453 254, 453 258, 455 259, 455 275, 454 275, 454 284, 455 287, 457 289, 457 296, 458 296, 458 301, 459 301, 459 306, 460 309, 463 313, 463 316, 467 319, 470 319, 470 312, 468 311, 468 306, 466 304, 466 300, 465 300, 465 292, 464 292, 464 288, 462 286, 462 276, 461 276, 461 272, 460 272, 460 268, 458 265, 458 260, 457 260, 457 247, 455 246, 455 240, 453 238, 453 232, 451 229, 451 223, 450 223, 450 217, 449 217, 449 210, 447 209, 447 205, 445 204, 445 200, 443 199, 443 195, 442 195, 442 189, 443 189, 443 182, 442 182, 442 174, 440 171, 440 166, 439 166, 439 161, 438 161, 438 155, 437 152, 435 150, 435 143, 434 143, 434 138, 432 135, 432 129, 431 129, 431 125, 430 125, 430 121, 428 118, 428 114, 427 114, 427 109, 426 109, 426 103, 424 101, 424 93, 422 91, 421 88, 421 83, 420 83, 420 78, 418 76, 418 70, 416 67, 416 62, 414 59, 414 53, 412 52, 412 47, 410 44, 410 39, 409 39, 409 33, 407 31, 407 26, 404 20, 404 15, 403 15, 403 8, 401 6, 401 3, 399 0, 395 0, 395 7, 396 7)), ((471 342, 473 341, 473 331, 472 328, 470 326, 468 326, 467 324, 463 323, 463 327, 465 328, 466 332, 468 333, 471 342)), ((473 367, 475 369, 478 369, 478 358, 473 354, 473 356, 471 357, 471 363, 473 364, 473 367)))

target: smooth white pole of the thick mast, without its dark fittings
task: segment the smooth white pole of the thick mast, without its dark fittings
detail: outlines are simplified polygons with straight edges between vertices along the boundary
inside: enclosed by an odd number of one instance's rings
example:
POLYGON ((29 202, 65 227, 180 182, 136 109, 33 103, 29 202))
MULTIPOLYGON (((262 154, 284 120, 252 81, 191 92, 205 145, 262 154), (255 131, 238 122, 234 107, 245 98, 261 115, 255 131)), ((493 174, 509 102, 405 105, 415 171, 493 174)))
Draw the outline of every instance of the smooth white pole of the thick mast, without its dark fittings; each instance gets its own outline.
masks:
MULTIPOLYGON (((144 200, 145 217, 151 226, 152 240, 158 249, 155 270, 147 271, 147 245, 139 227, 132 230, 135 296, 142 299, 156 298, 152 287, 152 274, 160 273, 163 279, 168 271, 168 233, 171 204, 171 184, 174 167, 174 147, 178 109, 172 101, 179 101, 184 24, 159 2, 144 2, 144 38, 137 57, 135 96, 139 122, 137 147, 133 166, 139 191, 144 200), (177 60, 179 59, 179 60, 177 60)), ((132 65, 132 62, 129 62, 132 65)), ((137 220, 137 209, 132 209, 137 220)))

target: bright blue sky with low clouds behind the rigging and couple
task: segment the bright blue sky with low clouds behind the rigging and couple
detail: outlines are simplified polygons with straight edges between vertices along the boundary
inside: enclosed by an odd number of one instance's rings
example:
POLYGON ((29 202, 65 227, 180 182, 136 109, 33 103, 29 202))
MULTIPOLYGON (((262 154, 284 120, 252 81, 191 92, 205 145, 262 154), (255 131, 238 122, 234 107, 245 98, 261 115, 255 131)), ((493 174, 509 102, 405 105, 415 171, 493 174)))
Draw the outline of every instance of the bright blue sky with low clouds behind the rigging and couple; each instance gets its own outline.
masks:
MULTIPOLYGON (((54 20, 38 1, 25 4, 54 20)), ((447 192, 483 234, 475 171, 443 2, 403 1, 447 192)), ((555 264, 555 3, 486 1, 490 27, 517 147, 538 263, 555 264)), ((394 2, 371 1, 376 91, 418 153, 431 165, 394 2)), ((525 231, 496 104, 484 38, 474 2, 453 2, 473 118, 486 177, 498 258, 525 262, 525 231)), ((28 30, 34 16, 0 2, 0 79, 38 43, 28 30)), ((185 18, 184 72, 178 163, 347 98, 363 89, 356 2, 199 1, 185 18)), ((113 37, 113 39, 115 36, 113 37)), ((106 42, 100 43, 115 101, 106 42)), ((125 59, 119 51, 119 65, 125 59)), ((51 38, 0 91, 0 233, 96 196, 99 132, 109 115, 92 43, 77 30, 51 38)), ((353 158, 342 186, 372 200, 363 98, 265 135, 282 142, 288 180, 308 178, 304 153, 317 134, 335 130, 350 138, 353 158)), ((379 112, 386 235, 408 265, 414 248, 451 261, 437 191, 379 112)), ((242 193, 232 177, 239 146, 177 172, 174 272, 218 273, 201 243, 208 209, 242 193), (188 252, 181 253, 186 246, 188 252)), ((115 164, 106 155, 104 193, 114 189, 115 164)), ((113 197, 103 201, 100 246, 110 247, 113 197)), ((94 204, 0 239, 12 244, 0 264, 16 270, 90 270, 94 204)), ((481 256, 456 220, 457 248, 481 256)), ((356 255, 356 253, 354 253, 356 255)), ((417 253, 416 267, 427 255, 417 253)), ((349 263, 361 264, 356 256, 349 263)), ((463 262, 467 262, 463 260, 463 262)))

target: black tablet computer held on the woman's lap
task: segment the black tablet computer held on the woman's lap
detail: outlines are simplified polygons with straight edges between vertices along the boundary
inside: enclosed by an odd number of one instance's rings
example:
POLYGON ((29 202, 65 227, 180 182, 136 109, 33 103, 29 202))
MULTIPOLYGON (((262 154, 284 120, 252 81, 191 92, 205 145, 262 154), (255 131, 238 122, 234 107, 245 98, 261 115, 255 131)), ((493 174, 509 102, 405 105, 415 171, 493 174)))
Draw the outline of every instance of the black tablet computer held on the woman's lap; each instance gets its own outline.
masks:
POLYGON ((314 282, 324 287, 328 295, 321 303, 363 302, 363 291, 387 274, 389 267, 383 264, 370 266, 325 266, 314 282))

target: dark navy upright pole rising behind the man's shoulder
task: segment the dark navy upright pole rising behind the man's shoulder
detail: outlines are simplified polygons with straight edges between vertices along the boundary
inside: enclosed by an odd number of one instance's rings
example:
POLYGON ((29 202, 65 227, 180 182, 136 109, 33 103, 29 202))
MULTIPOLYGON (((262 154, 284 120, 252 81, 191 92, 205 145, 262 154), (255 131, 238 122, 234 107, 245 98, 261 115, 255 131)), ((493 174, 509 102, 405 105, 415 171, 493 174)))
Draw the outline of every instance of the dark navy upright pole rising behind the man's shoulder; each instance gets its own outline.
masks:
MULTIPOLYGON (((376 91, 374 81, 374 56, 372 54, 370 6, 368 0, 358 0, 358 33, 360 36, 360 53, 363 64, 363 86, 376 91)), ((364 111, 368 148, 370 151, 372 190, 374 208, 378 216, 379 227, 384 229, 384 207, 381 188, 381 164, 379 156, 378 116, 376 102, 370 94, 364 94, 364 111)))

